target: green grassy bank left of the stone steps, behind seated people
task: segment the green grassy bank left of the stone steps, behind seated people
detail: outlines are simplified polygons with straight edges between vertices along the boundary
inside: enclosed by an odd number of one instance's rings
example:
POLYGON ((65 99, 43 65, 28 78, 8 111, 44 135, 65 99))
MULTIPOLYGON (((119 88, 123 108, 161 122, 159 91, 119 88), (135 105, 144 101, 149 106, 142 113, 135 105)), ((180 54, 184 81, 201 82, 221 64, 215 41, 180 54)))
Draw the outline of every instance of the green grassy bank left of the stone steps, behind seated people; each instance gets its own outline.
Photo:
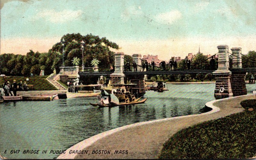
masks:
POLYGON ((34 84, 35 90, 56 90, 56 88, 49 83, 45 78, 47 76, 33 76, 33 77, 23 77, 23 76, 5 76, 0 77, 0 84, 3 87, 4 81, 10 81, 11 84, 13 80, 16 80, 16 83, 19 84, 20 81, 24 83, 26 81, 27 84, 34 84), (26 81, 26 78, 29 80, 26 81))

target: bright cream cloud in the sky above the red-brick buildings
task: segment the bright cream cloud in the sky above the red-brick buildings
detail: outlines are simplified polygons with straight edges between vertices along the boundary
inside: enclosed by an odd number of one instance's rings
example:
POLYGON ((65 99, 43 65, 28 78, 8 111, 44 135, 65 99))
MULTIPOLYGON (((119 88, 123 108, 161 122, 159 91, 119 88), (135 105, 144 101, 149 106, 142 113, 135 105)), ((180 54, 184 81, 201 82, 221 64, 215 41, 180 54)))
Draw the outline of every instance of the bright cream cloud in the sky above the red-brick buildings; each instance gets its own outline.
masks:
POLYGON ((162 24, 172 24, 174 21, 181 18, 181 13, 180 11, 172 10, 170 12, 158 14, 155 18, 157 22, 162 24))

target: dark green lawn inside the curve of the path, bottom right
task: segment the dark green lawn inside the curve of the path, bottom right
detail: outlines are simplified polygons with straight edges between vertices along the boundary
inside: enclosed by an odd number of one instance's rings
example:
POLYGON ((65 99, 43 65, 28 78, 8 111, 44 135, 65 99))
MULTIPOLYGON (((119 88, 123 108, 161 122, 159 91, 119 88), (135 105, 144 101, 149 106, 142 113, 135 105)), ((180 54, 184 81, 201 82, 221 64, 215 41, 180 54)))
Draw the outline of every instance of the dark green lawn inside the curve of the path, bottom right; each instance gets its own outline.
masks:
MULTIPOLYGON (((248 101, 248 100, 244 100, 248 101)), ((241 113, 197 124, 165 142, 159 159, 238 159, 256 155, 256 100, 241 113)), ((245 106, 246 105, 246 106, 245 106)))

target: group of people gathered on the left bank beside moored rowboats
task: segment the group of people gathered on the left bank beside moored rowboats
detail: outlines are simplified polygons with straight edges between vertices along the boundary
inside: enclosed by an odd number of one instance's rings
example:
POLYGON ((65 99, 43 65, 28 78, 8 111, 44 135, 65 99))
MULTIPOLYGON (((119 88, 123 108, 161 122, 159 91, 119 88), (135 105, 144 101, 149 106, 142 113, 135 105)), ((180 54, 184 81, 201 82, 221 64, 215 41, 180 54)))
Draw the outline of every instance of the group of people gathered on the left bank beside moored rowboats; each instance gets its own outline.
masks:
POLYGON ((0 88, 0 95, 17 96, 17 91, 28 91, 28 85, 26 84, 26 82, 22 83, 22 81, 20 81, 20 83, 17 84, 16 80, 13 80, 13 83, 11 84, 10 81, 5 81, 3 84, 3 88, 0 88))

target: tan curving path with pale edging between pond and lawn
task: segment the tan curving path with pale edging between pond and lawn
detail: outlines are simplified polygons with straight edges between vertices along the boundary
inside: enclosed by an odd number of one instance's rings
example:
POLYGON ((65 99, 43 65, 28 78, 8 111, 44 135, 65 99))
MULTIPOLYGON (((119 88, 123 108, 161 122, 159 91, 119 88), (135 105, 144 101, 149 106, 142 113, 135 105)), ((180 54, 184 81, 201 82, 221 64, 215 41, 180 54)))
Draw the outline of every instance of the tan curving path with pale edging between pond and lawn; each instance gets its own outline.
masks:
MULTIPOLYGON (((154 120, 143 125, 129 125, 129 128, 123 126, 123 130, 111 133, 111 131, 103 132, 89 139, 79 142, 75 146, 69 148, 66 154, 60 155, 58 158, 75 158, 75 159, 155 159, 159 154, 162 146, 177 131, 189 126, 218 119, 230 114, 242 112, 244 108, 240 106, 240 102, 244 99, 253 99, 254 95, 232 97, 216 102, 206 103, 207 106, 213 107, 215 111, 198 115, 189 115, 173 118, 165 118, 162 120, 154 120), (216 110, 216 107, 217 110, 216 110), (156 121, 156 122, 155 122, 156 121), (106 136, 105 136, 106 135, 106 136), (89 150, 88 154, 68 154, 69 150, 89 150), (91 154, 92 150, 111 150, 113 154, 91 154), (114 154, 115 150, 128 150, 129 154, 114 154)), ((119 127, 121 128, 121 127, 119 127)), ((115 130, 115 129, 114 129, 115 130)), ((118 130, 118 129, 117 129, 118 130)))

